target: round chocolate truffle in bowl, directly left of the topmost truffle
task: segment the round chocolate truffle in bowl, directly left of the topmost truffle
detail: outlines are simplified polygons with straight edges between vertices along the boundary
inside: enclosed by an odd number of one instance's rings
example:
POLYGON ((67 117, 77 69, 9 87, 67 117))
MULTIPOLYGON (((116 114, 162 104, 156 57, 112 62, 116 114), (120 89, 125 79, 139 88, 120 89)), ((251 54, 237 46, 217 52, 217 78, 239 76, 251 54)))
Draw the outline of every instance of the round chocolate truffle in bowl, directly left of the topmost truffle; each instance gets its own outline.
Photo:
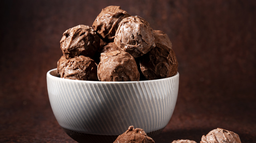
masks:
POLYGON ((60 40, 60 48, 67 59, 75 56, 94 56, 100 38, 92 27, 78 25, 66 30, 60 40))

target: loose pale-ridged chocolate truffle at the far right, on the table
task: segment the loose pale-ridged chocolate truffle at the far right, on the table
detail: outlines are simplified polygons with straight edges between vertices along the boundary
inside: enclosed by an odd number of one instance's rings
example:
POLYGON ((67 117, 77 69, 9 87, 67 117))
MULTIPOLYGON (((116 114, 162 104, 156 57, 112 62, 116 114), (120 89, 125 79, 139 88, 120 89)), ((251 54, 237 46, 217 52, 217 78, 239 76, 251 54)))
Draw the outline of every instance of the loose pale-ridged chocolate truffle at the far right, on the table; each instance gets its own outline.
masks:
POLYGON ((241 140, 236 133, 217 128, 203 135, 200 143, 241 143, 241 140))

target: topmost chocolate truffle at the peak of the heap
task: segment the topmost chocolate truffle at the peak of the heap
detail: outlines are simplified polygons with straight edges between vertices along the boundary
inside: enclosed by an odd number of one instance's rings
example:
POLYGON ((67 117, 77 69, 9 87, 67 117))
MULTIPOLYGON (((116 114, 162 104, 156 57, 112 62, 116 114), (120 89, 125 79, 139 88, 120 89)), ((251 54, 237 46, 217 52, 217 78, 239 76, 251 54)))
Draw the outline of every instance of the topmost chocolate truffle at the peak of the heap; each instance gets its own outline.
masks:
POLYGON ((103 8, 96 17, 93 28, 98 35, 107 43, 113 42, 119 23, 126 17, 129 17, 126 11, 119 6, 108 6, 103 8))

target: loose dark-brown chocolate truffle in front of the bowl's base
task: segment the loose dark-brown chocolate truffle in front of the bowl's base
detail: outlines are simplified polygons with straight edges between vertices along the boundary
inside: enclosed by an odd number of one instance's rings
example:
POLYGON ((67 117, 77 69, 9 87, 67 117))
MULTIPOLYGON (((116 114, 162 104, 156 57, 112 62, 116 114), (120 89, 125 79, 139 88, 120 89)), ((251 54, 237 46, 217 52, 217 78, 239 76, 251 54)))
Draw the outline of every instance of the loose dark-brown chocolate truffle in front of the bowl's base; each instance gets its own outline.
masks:
POLYGON ((127 131, 119 135, 114 143, 155 143, 155 141, 147 136, 143 129, 130 126, 127 131))

